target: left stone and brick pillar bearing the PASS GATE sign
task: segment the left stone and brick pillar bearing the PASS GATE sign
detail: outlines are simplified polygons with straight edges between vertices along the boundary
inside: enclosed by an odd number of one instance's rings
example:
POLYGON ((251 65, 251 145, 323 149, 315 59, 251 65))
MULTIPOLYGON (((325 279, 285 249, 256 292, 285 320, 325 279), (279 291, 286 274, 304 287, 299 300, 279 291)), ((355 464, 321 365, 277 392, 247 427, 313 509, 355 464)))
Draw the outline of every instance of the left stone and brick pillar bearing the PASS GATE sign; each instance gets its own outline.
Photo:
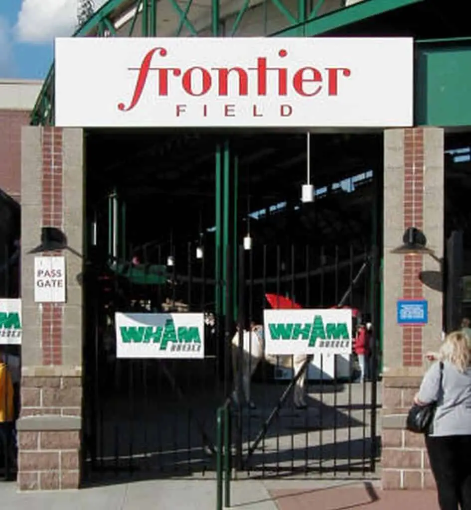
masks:
POLYGON ((23 127, 21 297, 23 307, 20 490, 76 489, 82 412, 83 133, 23 127), (59 228, 66 258, 66 303, 34 302, 34 255, 41 226, 59 228))

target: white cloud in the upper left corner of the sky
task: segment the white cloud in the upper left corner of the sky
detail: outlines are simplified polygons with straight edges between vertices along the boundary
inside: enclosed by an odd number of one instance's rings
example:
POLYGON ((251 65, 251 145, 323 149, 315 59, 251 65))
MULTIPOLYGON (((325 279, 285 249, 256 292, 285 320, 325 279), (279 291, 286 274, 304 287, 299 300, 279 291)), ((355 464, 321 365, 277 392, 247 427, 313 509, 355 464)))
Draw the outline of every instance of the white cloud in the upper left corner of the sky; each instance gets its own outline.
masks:
MULTIPOLYGON (((101 7, 106 0, 96 0, 101 7)), ((22 0, 16 25, 21 42, 48 43, 71 35, 77 26, 78 0, 22 0)))

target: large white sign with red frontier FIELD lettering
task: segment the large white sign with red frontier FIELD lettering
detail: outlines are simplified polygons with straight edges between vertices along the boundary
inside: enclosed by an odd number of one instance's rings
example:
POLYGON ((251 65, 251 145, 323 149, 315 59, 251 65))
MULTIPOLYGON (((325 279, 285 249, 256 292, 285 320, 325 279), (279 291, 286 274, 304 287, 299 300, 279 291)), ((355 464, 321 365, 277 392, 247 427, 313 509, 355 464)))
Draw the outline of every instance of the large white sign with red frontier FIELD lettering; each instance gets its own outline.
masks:
POLYGON ((63 127, 413 122, 411 38, 58 38, 63 127))

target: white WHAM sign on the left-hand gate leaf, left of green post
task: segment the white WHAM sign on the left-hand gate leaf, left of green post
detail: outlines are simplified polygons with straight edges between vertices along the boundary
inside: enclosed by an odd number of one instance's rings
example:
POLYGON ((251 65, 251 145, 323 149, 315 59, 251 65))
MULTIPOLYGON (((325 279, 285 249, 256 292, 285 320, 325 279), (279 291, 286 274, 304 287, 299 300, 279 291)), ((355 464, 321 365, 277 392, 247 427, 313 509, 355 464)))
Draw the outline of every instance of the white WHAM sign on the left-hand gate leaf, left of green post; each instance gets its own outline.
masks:
POLYGON ((204 359, 203 314, 115 314, 117 358, 204 359))

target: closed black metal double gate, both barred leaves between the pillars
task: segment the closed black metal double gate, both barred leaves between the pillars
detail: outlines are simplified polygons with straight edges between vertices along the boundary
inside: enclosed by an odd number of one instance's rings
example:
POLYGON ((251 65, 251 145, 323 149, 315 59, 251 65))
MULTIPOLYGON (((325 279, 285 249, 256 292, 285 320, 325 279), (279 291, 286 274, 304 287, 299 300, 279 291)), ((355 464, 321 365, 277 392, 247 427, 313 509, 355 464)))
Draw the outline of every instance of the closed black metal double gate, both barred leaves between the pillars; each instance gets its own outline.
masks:
POLYGON ((85 474, 159 477, 214 471, 216 410, 230 395, 236 469, 260 476, 374 471, 378 342, 371 346, 369 371, 361 383, 355 382, 354 356, 337 356, 330 372, 326 367, 332 360, 322 360, 312 375, 310 360, 262 355, 249 368, 250 398, 243 399, 246 382, 235 368, 242 367, 247 354, 237 343, 237 326, 261 324, 268 293, 289 297, 303 308, 358 309, 360 322, 371 322, 375 331, 375 249, 356 244, 241 246, 237 260, 230 260, 234 252, 229 248, 227 281, 217 283, 211 278, 209 250, 197 257, 195 248, 170 247, 167 257, 159 247, 152 256, 141 253, 128 263, 100 261, 97 254, 91 259, 84 276, 85 474), (142 273, 139 281, 132 277, 135 268, 142 273), (224 288, 226 316, 218 315, 211 302, 217 285, 224 288), (205 359, 116 359, 116 311, 205 312, 205 359), (302 370, 293 376, 295 367, 302 370), (305 369, 307 405, 296 406, 292 393, 305 369))

